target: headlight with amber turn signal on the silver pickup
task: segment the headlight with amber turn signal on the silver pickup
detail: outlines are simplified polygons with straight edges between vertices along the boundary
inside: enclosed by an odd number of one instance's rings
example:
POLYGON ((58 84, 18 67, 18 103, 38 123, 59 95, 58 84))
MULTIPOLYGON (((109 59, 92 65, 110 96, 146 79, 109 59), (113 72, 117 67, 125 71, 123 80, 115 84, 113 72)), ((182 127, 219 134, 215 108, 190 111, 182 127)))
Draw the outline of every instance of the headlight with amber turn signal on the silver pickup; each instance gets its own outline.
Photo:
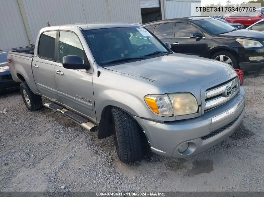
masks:
POLYGON ((196 98, 190 93, 175 93, 168 95, 148 95, 145 101, 157 115, 188 115, 198 111, 196 98))

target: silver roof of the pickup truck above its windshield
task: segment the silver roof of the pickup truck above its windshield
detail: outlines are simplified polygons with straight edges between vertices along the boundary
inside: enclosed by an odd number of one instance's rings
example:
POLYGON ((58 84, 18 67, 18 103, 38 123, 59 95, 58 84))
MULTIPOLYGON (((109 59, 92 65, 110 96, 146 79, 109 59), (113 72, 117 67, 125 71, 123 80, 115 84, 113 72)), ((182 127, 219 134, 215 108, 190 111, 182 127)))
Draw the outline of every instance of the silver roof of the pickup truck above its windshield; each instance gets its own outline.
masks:
MULTIPOLYGON (((104 28, 112 28, 112 27, 140 27, 141 25, 132 24, 132 23, 113 23, 113 22, 101 22, 101 23, 76 23, 69 25, 61 25, 61 26, 76 26, 80 27, 83 30, 91 30, 91 29, 104 29, 104 28)), ((142 27, 142 26, 141 26, 142 27)))

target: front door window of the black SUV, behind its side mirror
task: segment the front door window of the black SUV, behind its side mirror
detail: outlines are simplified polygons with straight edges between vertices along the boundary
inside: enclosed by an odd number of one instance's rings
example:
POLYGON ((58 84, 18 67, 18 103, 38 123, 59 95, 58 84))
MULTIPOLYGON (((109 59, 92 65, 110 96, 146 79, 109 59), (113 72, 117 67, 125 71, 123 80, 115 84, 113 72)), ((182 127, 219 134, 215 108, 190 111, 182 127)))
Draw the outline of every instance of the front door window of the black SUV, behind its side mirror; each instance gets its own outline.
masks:
POLYGON ((191 33, 199 32, 199 30, 188 23, 176 23, 175 24, 175 38, 190 38, 191 33))

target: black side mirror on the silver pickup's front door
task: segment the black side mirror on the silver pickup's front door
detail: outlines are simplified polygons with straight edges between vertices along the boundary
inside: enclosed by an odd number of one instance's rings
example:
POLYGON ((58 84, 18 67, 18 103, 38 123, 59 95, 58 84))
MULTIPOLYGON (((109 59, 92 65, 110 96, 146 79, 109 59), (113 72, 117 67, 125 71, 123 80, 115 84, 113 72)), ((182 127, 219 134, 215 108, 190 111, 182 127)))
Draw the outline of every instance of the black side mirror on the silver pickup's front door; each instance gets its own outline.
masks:
POLYGON ((62 59, 63 68, 79 70, 86 69, 89 70, 91 66, 88 64, 83 64, 82 59, 77 55, 67 55, 62 59))

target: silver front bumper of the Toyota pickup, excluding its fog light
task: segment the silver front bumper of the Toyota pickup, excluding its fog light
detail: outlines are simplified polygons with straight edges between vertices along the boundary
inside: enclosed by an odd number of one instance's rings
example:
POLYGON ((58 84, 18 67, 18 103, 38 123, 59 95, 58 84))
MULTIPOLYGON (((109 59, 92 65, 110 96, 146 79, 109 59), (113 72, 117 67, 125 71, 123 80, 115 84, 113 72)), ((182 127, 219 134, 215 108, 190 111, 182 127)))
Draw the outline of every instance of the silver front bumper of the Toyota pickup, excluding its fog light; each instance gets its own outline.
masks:
POLYGON ((174 122, 134 118, 144 129, 153 152, 165 157, 190 157, 230 136, 242 122, 245 103, 246 93, 240 88, 240 93, 230 101, 197 118, 174 122), (178 149, 183 143, 189 143, 189 147, 180 153, 178 149))

